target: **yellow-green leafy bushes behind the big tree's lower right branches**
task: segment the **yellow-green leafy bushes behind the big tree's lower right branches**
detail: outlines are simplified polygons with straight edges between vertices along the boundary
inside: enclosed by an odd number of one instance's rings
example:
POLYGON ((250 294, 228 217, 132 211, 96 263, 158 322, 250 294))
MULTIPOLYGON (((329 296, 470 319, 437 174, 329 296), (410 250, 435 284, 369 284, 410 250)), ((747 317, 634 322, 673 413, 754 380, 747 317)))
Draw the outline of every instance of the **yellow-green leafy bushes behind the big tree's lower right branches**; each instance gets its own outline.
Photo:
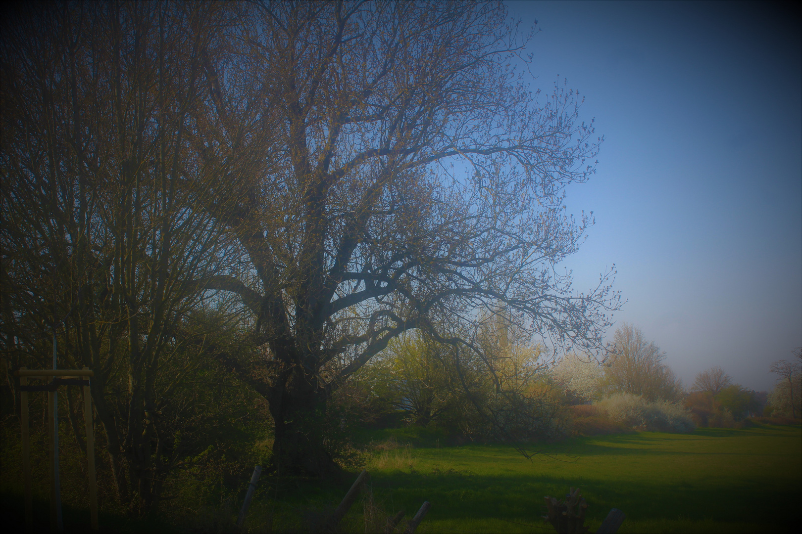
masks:
POLYGON ((553 435, 561 408, 541 347, 512 343, 509 328, 488 323, 477 351, 457 354, 416 331, 394 339, 354 377, 375 399, 366 411, 383 404, 407 424, 472 439, 553 435))

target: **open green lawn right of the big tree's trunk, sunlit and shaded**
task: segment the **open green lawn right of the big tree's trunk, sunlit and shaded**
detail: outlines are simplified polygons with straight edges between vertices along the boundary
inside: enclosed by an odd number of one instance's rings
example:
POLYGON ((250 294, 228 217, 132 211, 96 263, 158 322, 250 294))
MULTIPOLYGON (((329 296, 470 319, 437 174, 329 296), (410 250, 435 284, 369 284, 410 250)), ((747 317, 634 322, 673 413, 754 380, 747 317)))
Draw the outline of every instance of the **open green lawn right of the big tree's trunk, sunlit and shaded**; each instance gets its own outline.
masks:
POLYGON ((626 513, 619 532, 784 532, 802 520, 800 428, 598 436, 544 452, 530 462, 498 445, 416 448, 412 472, 387 458, 369 469, 388 511, 431 502, 418 532, 553 532, 543 496, 577 485, 591 532, 610 508, 626 513))

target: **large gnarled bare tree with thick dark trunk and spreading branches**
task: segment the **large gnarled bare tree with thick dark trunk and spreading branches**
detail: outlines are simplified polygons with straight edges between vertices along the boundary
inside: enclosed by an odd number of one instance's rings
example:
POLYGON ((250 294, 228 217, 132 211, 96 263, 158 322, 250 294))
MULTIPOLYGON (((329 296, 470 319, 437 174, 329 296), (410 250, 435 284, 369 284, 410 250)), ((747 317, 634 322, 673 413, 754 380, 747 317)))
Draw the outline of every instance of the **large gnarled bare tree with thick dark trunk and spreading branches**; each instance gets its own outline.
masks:
MULTIPOLYGON (((557 271, 593 223, 562 199, 593 174, 600 139, 576 93, 529 91, 511 66, 529 34, 504 6, 244 9, 241 54, 205 65, 213 119, 196 136, 219 176, 199 205, 242 263, 204 287, 253 315, 265 361, 238 372, 269 401, 282 470, 333 468, 326 399, 404 331, 452 347, 458 370, 494 370, 477 336, 498 307, 553 347, 601 349, 614 271, 580 294, 557 271), (226 126, 240 116, 249 135, 226 126)), ((503 430, 500 411, 477 409, 503 430)))

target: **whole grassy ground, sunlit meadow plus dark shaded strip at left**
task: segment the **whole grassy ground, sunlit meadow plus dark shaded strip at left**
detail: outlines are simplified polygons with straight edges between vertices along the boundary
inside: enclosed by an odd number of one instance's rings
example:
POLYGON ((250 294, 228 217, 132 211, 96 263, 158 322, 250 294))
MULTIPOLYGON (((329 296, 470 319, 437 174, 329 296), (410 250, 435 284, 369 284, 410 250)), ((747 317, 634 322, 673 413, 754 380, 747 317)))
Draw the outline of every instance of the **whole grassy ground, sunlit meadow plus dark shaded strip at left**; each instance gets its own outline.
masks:
MULTIPOLYGON (((626 513, 622 533, 796 532, 802 524, 799 427, 597 436, 550 444, 543 452, 530 462, 501 445, 398 448, 366 460, 375 502, 385 512, 403 508, 409 517, 431 502, 421 534, 554 532, 541 519, 543 496, 561 498, 569 486, 579 486, 589 504, 590 532, 610 508, 626 513)), ((245 532, 315 532, 354 477, 263 477, 245 532)), ((108 532, 235 532, 236 493, 222 508, 167 508, 138 521, 103 514, 101 524, 108 532)), ((21 496, 4 497, 6 517, 21 526, 21 496)), ((47 502, 34 508, 44 527, 47 502)), ((365 532, 363 509, 354 505, 344 531, 365 532)), ((65 525, 77 528, 85 516, 85 510, 65 510, 65 525)))

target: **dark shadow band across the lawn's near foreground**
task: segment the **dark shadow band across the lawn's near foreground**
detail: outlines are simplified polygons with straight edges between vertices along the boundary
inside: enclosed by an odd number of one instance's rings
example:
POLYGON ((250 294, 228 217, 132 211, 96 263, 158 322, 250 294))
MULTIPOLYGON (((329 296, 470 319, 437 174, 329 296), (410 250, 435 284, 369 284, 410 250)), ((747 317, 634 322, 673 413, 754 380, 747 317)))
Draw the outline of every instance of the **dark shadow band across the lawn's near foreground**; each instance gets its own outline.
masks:
POLYGON ((539 523, 545 513, 543 497, 562 498, 569 486, 579 486, 589 504, 589 519, 602 520, 610 508, 619 508, 634 520, 685 517, 691 520, 760 522, 776 518, 779 524, 802 520, 802 490, 793 484, 706 486, 680 481, 662 484, 555 476, 377 475, 374 492, 392 500, 395 508, 415 510, 431 502, 433 520, 488 519, 539 523), (760 504, 755 504, 759 496, 760 504), (789 516, 789 511, 791 516, 789 516))

